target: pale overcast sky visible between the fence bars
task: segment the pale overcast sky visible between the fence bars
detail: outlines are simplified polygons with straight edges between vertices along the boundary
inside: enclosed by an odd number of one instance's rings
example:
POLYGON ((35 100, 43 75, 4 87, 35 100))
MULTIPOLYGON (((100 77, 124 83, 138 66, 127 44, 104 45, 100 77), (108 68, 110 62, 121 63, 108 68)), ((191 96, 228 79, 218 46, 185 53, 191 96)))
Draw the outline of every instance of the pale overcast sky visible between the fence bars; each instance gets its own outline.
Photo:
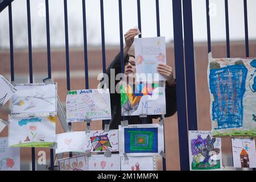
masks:
MULTIPOLYGON (((175 1, 175 0, 172 0, 175 1)), ((160 35, 173 40, 172 1, 159 0, 160 35)), ((14 48, 28 46, 26 0, 15 0, 13 9, 14 48)), ((88 44, 101 46, 100 0, 85 0, 88 44)), ((210 32, 212 41, 225 40, 224 0, 210 0, 210 32)), ((31 0, 32 47, 45 48, 45 1, 31 0)), ((83 46, 82 0, 68 0, 69 47, 83 46)), ((256 1, 247 0, 249 39, 256 39, 256 1)), ((104 0, 105 44, 119 45, 118 0, 104 0)), ((50 35, 52 47, 65 46, 64 1, 49 0, 50 35)), ((193 38, 195 42, 207 41, 205 0, 192 0, 193 38)), ((138 26, 137 0, 122 0, 123 34, 138 26)), ((229 0, 230 41, 244 40, 243 0, 229 0)), ((156 36, 155 0, 141 0, 142 37, 156 36)), ((8 8, 0 13, 0 48, 9 49, 8 8)))

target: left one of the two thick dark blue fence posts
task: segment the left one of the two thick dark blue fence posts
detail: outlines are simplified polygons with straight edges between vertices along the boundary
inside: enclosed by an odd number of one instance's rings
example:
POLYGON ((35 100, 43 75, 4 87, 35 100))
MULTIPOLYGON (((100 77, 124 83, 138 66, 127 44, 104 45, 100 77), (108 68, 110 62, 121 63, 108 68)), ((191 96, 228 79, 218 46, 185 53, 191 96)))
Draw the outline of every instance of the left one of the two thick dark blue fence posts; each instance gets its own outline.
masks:
POLYGON ((189 170, 181 0, 172 1, 180 170, 189 170))

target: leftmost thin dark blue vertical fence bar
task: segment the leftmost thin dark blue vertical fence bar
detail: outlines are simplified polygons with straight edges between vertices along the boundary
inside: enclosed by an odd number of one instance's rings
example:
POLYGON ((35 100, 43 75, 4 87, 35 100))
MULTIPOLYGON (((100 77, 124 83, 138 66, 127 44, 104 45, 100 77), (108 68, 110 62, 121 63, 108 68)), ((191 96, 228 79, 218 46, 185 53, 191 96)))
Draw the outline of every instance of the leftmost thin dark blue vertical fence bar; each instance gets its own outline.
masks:
POLYGON ((9 34, 10 34, 10 60, 11 60, 11 81, 14 81, 14 57, 13 57, 13 15, 9 5, 9 34))

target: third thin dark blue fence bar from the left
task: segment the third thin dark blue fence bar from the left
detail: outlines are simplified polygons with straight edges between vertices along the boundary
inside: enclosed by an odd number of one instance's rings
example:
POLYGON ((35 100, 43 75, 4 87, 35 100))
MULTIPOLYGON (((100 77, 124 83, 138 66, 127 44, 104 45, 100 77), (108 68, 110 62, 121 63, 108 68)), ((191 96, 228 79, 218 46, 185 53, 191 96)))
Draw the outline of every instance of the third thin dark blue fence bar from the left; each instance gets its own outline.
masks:
MULTIPOLYGON (((49 2, 46 0, 46 36, 47 36, 47 67, 48 67, 48 78, 52 77, 51 72, 51 42, 50 42, 50 34, 49 34, 49 2)), ((50 148, 50 161, 51 166, 50 170, 54 170, 54 151, 50 148)))

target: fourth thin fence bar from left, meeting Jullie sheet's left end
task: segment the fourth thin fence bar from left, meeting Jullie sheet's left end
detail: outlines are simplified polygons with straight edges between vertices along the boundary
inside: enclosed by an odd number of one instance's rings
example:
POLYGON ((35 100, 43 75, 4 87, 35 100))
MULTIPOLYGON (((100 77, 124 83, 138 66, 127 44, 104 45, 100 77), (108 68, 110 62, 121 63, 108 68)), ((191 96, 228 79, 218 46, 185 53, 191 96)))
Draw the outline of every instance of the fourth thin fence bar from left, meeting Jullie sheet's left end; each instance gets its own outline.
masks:
MULTIPOLYGON (((65 19, 65 51, 66 51, 66 68, 67 68, 67 90, 70 90, 67 0, 64 0, 64 19, 65 19)), ((68 123, 68 126, 72 126, 72 124, 68 123)), ((69 152, 69 157, 72 157, 72 152, 69 152)))

